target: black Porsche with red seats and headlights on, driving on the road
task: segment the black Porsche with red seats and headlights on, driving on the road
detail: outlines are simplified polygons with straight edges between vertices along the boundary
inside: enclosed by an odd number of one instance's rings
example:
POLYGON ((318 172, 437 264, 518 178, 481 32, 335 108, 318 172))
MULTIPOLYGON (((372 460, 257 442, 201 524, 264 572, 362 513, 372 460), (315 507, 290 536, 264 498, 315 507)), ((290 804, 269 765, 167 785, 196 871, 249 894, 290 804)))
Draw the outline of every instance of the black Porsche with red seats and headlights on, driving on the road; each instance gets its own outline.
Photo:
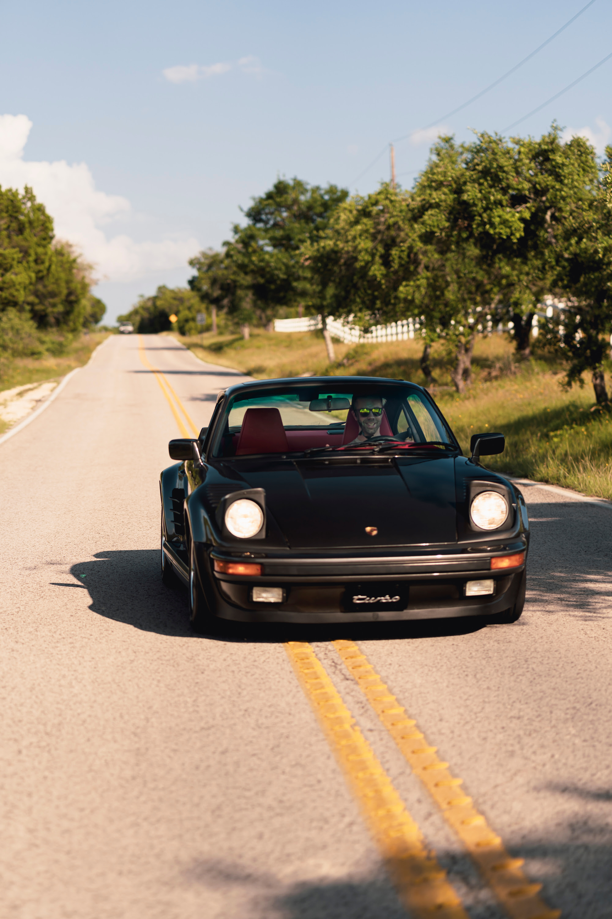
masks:
POLYGON ((297 378, 219 393, 161 473, 161 574, 189 586, 194 630, 241 622, 484 616, 525 602, 527 507, 462 449, 427 390, 297 378))

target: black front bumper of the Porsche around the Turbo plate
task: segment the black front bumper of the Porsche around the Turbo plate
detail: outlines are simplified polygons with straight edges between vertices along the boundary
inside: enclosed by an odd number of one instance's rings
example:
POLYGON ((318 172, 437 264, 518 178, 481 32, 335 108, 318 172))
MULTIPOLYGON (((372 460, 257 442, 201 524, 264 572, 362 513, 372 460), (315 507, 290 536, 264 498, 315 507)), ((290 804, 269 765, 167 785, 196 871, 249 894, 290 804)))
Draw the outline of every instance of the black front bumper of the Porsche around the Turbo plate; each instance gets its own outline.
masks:
MULTIPOLYGON (((484 550, 419 551, 414 555, 397 552, 377 557, 301 556, 250 558, 259 562, 257 577, 231 576, 214 572, 213 562, 237 561, 236 554, 219 549, 209 551, 199 544, 195 556, 200 580, 211 612, 219 618, 240 622, 372 622, 409 619, 492 616, 514 607, 525 564, 491 572, 491 558, 524 551, 527 542, 516 539, 484 550), (492 578, 495 593, 464 596, 467 581, 492 578), (349 588, 395 584, 406 593, 406 607, 347 610, 344 598, 349 588), (284 587, 284 603, 267 604, 250 599, 253 586, 284 587)), ((243 559, 243 561, 247 561, 243 559)))

